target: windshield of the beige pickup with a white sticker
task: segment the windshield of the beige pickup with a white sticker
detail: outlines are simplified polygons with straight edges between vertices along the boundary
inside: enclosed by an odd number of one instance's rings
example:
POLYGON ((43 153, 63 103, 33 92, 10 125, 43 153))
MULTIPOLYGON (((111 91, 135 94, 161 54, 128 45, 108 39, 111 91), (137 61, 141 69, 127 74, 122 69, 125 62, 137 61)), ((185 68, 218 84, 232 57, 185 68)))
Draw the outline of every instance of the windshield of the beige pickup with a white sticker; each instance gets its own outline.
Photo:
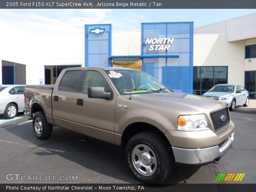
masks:
POLYGON ((120 94, 144 94, 154 92, 170 92, 152 76, 139 70, 107 70, 106 71, 120 94), (130 85, 129 85, 130 82, 130 85))

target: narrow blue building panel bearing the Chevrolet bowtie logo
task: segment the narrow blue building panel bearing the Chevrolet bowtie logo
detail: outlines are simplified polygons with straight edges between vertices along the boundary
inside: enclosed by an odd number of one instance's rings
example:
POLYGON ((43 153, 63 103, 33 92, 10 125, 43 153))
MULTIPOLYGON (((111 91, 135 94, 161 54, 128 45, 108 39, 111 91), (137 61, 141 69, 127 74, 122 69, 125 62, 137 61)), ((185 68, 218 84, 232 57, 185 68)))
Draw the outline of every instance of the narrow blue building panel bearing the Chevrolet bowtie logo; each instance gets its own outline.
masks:
POLYGON ((85 25, 85 66, 112 66, 111 55, 112 25, 85 25))

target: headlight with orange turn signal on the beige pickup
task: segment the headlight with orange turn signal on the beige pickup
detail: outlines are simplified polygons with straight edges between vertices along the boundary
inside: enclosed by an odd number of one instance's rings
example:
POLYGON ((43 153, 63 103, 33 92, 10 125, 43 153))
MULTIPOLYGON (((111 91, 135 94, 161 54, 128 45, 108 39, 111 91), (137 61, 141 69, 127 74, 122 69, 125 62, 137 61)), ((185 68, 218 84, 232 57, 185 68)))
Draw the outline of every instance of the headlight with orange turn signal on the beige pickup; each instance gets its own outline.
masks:
POLYGON ((209 125, 204 114, 182 115, 178 117, 178 130, 201 131, 208 130, 209 125))

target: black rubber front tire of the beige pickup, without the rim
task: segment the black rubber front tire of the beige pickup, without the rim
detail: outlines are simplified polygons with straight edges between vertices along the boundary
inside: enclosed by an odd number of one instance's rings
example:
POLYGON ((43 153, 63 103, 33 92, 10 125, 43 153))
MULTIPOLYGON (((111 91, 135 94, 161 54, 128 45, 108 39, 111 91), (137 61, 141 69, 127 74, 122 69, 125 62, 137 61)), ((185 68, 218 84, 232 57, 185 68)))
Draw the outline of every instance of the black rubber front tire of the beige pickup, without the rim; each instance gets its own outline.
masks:
MULTIPOLYGON (((144 150, 144 149, 143 149, 144 150)), ((142 151, 143 151, 142 150, 142 151)), ((151 151, 150 151, 151 152, 151 151)), ((152 156, 151 153, 150 156, 152 156)), ((143 154, 143 153, 142 153, 143 154)), ((140 156, 141 157, 141 156, 140 156)), ((134 156, 134 159, 136 157, 134 156)), ((144 159, 143 159, 144 160, 144 159)), ((142 163, 142 160, 138 160, 142 163)), ((172 158, 172 150, 171 146, 164 138, 164 136, 152 132, 142 132, 134 135, 128 142, 126 146, 126 162, 133 175, 143 183, 161 183, 166 180, 171 172, 173 166, 173 158, 172 158), (134 163, 132 161, 132 151, 137 146, 145 145, 154 152, 153 154, 156 156, 156 169, 155 172, 146 176, 141 174, 137 168, 135 168, 134 163)), ((145 168, 144 168, 145 169, 145 168)), ((152 166, 151 166, 152 169, 152 166)))

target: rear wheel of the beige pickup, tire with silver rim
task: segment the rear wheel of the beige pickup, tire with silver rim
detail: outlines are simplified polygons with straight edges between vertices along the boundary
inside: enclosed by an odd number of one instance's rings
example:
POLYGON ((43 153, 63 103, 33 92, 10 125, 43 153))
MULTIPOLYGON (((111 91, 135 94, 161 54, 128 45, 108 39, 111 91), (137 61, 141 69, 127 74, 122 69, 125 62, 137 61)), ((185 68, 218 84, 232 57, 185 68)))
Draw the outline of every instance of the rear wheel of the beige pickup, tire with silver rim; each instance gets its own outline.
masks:
POLYGON ((52 125, 46 121, 46 117, 43 111, 38 111, 34 114, 33 131, 38 139, 47 139, 52 135, 52 125), (40 122, 42 125, 40 125, 40 122))

